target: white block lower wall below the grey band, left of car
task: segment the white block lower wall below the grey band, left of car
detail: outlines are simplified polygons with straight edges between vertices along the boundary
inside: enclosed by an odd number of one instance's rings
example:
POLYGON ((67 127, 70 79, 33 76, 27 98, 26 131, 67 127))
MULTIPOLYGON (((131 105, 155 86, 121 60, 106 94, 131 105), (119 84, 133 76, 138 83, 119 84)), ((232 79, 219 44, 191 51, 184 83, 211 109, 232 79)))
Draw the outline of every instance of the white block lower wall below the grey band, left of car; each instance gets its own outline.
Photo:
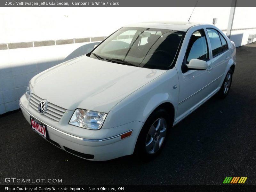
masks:
POLYGON ((19 109, 20 97, 36 74, 91 51, 95 44, 76 43, 0 51, 0 114, 19 109))

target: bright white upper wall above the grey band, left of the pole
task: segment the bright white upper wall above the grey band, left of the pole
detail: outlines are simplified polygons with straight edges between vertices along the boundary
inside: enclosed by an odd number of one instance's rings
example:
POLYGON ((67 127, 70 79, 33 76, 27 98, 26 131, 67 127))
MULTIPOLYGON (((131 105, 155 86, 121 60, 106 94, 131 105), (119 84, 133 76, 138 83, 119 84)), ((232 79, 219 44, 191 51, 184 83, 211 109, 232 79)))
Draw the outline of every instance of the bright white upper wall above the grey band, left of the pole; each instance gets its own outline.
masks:
MULTIPOLYGON (((226 29, 228 7, 196 7, 190 21, 226 29)), ((0 8, 0 44, 108 36, 122 26, 150 20, 188 20, 193 7, 13 7, 0 8)), ((256 26, 255 26, 256 27, 256 26)))

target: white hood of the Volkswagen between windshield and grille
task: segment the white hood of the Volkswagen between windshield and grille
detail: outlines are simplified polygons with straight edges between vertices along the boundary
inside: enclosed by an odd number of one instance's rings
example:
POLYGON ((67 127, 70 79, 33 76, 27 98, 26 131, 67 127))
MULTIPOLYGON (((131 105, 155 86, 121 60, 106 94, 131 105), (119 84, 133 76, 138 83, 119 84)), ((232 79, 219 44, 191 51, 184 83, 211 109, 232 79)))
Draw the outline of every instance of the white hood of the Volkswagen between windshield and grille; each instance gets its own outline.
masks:
POLYGON ((32 92, 68 110, 108 113, 132 92, 167 70, 139 68, 82 56, 31 79, 32 92))

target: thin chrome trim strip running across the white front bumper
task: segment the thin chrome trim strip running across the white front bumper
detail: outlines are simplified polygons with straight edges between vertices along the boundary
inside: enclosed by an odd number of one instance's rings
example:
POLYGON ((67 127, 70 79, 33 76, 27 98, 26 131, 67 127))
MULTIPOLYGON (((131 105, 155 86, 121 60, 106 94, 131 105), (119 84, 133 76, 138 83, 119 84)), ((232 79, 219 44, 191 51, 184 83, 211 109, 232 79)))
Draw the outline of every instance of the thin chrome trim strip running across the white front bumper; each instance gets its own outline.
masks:
MULTIPOLYGON (((31 113, 28 112, 28 110, 26 110, 26 109, 23 107, 23 105, 21 104, 21 102, 20 102, 20 107, 22 107, 22 109, 24 109, 24 111, 26 111, 30 116, 33 116, 31 113)), ((34 117, 34 116, 33 116, 33 117, 34 117)), ((83 141, 105 141, 105 140, 114 139, 114 138, 119 137, 119 136, 121 136, 121 135, 123 135, 123 134, 125 134, 125 133, 130 132, 130 131, 133 132, 133 130, 131 129, 131 130, 127 131, 127 132, 121 133, 121 134, 116 135, 116 136, 113 136, 113 137, 108 137, 108 138, 105 138, 105 139, 85 139, 85 138, 77 137, 77 136, 74 136, 74 135, 70 135, 70 134, 68 134, 68 133, 65 133, 65 132, 63 132, 63 131, 60 131, 60 130, 58 130, 58 129, 56 129, 56 128, 54 128, 54 127, 52 127, 52 126, 50 126, 50 125, 48 125, 48 124, 46 124, 46 123, 44 123, 44 122, 41 121, 41 120, 39 120, 39 121, 42 122, 43 124, 45 124, 47 127, 50 127, 50 128, 52 128, 53 130, 55 130, 55 131, 57 131, 57 132, 60 132, 60 133, 62 133, 62 134, 64 134, 64 135, 67 135, 67 136, 69 136, 69 137, 73 137, 73 138, 75 138, 75 139, 79 139, 79 140, 83 140, 83 141)), ((131 135, 132 135, 132 134, 131 134, 131 135)), ((130 136, 129 136, 129 137, 130 137, 130 136)))

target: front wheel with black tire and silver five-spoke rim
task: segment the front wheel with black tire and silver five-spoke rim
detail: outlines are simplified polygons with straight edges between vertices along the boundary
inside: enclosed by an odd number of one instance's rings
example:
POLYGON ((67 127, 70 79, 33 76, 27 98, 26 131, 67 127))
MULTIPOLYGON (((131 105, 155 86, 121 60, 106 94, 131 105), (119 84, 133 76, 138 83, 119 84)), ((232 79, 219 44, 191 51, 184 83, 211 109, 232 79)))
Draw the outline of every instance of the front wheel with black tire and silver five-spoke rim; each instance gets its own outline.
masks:
POLYGON ((150 161, 162 151, 171 127, 171 117, 165 109, 154 111, 142 127, 134 155, 138 160, 150 161))

